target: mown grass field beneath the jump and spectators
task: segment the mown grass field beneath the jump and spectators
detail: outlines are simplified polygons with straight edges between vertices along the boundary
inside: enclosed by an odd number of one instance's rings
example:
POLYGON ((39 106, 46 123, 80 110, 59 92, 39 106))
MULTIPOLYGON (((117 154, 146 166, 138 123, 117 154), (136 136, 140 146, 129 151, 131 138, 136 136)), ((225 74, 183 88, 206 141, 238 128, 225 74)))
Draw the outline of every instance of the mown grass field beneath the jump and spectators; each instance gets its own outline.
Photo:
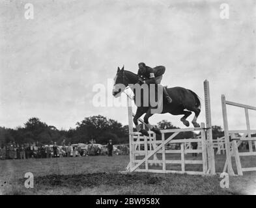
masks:
MULTIPOLYGON (((218 175, 119 174, 128 161, 128 155, 0 161, 0 194, 256 194, 255 172, 230 177, 223 189, 218 175), (34 174, 34 188, 24 187, 26 172, 34 174)), ((223 161, 216 156, 217 172, 223 161)))

